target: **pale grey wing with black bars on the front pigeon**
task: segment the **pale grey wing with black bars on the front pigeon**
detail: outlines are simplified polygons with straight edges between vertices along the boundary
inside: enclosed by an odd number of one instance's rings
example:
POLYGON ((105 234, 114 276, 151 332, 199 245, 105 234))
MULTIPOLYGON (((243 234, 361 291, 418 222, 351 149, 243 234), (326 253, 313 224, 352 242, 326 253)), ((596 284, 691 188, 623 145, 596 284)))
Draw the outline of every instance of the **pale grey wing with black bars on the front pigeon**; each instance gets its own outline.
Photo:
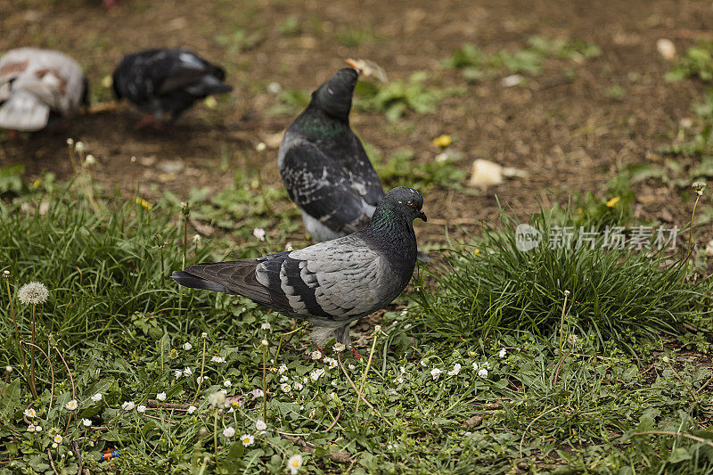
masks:
POLYGON ((265 258, 188 266, 173 278, 189 287, 240 294, 286 315, 352 320, 383 305, 390 287, 384 282, 391 280, 385 278, 386 267, 376 251, 350 234, 265 258), (190 276, 209 282, 191 282, 190 276))

